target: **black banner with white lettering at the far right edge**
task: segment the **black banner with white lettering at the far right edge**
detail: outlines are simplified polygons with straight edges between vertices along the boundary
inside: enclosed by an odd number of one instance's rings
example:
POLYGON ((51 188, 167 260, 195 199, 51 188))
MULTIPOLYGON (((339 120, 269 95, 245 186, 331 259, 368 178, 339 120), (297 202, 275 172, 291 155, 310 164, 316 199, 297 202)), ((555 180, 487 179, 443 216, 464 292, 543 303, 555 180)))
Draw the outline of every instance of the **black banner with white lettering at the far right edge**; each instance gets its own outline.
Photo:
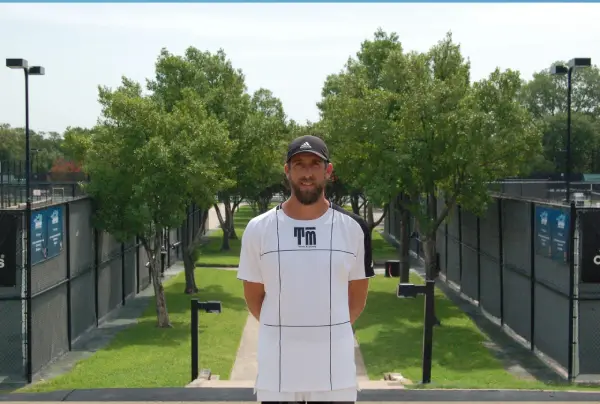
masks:
POLYGON ((582 211, 581 282, 600 283, 600 212, 582 211))

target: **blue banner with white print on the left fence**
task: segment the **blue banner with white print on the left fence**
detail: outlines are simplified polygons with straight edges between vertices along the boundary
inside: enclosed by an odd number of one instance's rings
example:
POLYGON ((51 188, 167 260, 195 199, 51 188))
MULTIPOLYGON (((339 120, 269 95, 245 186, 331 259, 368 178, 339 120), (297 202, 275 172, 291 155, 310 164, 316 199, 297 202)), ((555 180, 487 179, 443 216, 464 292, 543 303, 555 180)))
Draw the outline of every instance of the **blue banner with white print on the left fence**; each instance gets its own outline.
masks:
POLYGON ((63 207, 31 213, 31 265, 56 257, 63 249, 63 207))

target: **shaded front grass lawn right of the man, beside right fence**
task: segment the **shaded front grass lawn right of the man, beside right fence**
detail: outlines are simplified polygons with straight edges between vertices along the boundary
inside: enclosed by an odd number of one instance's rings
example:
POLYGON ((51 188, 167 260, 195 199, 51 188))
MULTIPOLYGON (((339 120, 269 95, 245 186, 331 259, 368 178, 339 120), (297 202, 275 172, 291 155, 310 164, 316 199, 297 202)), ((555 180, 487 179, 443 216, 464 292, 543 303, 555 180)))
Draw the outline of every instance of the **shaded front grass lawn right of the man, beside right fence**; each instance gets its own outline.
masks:
MULTIPOLYGON (((411 274, 411 281, 422 283, 411 274)), ((415 383, 421 381, 423 297, 398 299, 398 278, 378 275, 372 279, 367 307, 356 322, 356 335, 369 378, 399 372, 415 383)), ((483 345, 486 337, 440 290, 436 290, 436 314, 442 322, 434 328, 432 381, 436 388, 573 389, 519 379, 483 345)))

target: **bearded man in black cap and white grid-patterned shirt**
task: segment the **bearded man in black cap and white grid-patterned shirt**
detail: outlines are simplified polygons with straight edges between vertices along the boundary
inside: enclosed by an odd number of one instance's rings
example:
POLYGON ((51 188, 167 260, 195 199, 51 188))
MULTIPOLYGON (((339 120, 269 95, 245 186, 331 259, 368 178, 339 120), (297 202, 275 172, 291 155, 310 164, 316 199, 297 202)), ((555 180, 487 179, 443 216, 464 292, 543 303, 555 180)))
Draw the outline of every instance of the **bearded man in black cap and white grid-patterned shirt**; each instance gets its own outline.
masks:
POLYGON ((354 402, 352 324, 374 276, 371 233, 325 198, 333 166, 321 139, 292 141, 284 170, 291 198, 242 236, 238 278, 260 322, 257 399, 354 402))

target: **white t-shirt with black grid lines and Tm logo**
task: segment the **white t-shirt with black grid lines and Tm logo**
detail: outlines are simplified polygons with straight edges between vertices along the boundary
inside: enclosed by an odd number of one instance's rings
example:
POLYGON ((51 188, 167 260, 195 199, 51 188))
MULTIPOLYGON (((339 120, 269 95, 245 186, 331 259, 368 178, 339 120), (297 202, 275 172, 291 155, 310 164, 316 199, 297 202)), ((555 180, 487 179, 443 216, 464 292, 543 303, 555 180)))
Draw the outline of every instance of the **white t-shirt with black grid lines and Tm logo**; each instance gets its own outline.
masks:
POLYGON ((256 388, 279 392, 356 387, 348 282, 374 276, 371 233, 331 204, 315 220, 281 205, 250 220, 238 278, 264 284, 256 388))

